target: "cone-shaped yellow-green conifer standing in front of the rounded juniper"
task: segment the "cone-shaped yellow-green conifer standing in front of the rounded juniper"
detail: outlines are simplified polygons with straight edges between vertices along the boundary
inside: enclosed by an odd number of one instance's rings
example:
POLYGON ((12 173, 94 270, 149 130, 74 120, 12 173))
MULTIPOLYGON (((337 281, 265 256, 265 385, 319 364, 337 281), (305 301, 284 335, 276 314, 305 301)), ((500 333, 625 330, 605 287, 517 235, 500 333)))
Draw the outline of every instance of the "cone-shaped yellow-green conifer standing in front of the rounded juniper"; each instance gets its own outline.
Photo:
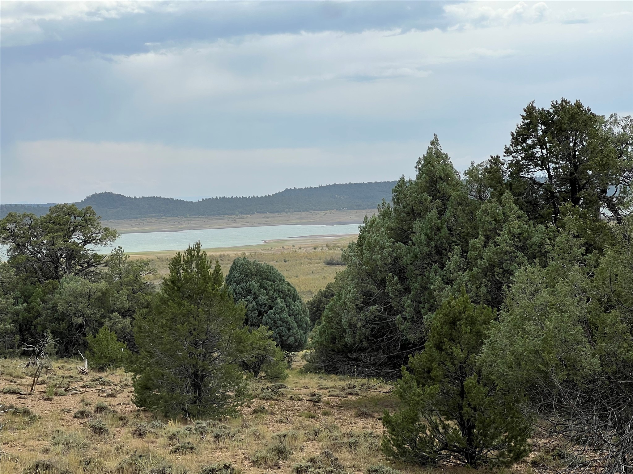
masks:
POLYGON ((170 417, 232 412, 246 399, 239 364, 258 333, 244 327, 244 308, 199 242, 177 253, 169 269, 160 294, 135 320, 134 403, 170 417))

